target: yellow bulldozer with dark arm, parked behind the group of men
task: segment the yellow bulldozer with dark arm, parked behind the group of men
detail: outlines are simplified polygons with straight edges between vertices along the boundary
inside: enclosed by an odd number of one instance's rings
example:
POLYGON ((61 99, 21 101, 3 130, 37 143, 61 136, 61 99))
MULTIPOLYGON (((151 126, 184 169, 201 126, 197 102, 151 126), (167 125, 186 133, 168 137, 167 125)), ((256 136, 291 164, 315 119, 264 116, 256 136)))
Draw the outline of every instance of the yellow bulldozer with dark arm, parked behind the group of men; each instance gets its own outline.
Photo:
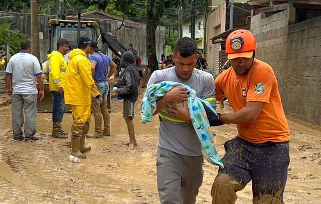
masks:
MULTIPOLYGON (((116 39, 116 36, 114 36, 111 33, 107 33, 105 28, 102 26, 98 29, 97 22, 80 21, 80 25, 78 25, 78 21, 54 19, 49 21, 48 54, 56 49, 57 41, 59 39, 66 39, 70 43, 69 52, 64 56, 68 64, 68 56, 70 52, 73 49, 77 48, 77 36, 79 26, 81 28, 80 36, 87 36, 92 41, 98 41, 98 43, 102 44, 102 53, 106 53, 107 49, 110 49, 113 53, 118 55, 119 58, 121 58, 123 53, 127 51, 127 48, 116 39)), ((38 112, 52 112, 52 97, 49 91, 49 61, 46 61, 42 64, 42 69, 45 86, 45 98, 41 101, 38 101, 37 108, 38 112)), ((69 105, 66 105, 65 112, 70 111, 71 107, 69 105)))

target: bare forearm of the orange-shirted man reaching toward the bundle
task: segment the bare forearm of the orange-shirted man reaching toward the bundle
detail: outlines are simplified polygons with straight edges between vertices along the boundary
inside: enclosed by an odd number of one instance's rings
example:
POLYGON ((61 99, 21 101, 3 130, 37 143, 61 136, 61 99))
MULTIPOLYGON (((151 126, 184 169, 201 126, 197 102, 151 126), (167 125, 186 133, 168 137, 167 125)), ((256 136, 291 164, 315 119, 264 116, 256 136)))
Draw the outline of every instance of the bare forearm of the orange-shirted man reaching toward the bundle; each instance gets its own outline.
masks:
POLYGON ((227 115, 221 115, 220 120, 224 124, 244 124, 256 120, 263 108, 262 102, 248 102, 241 110, 227 115))

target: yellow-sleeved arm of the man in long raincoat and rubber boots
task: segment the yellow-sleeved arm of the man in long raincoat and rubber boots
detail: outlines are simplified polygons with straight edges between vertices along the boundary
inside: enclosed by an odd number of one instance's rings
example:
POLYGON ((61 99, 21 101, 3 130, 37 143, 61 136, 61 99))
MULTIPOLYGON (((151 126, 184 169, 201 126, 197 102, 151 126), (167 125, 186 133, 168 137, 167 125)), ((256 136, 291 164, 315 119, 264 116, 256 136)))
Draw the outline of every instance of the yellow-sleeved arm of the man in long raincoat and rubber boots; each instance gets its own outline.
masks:
POLYGON ((95 85, 95 81, 91 76, 90 72, 90 66, 88 65, 87 60, 79 60, 77 62, 79 67, 79 75, 81 78, 81 81, 89 88, 91 92, 92 98, 100 98, 99 91, 97 89, 97 86, 95 85), (99 97, 98 97, 99 96, 99 97))

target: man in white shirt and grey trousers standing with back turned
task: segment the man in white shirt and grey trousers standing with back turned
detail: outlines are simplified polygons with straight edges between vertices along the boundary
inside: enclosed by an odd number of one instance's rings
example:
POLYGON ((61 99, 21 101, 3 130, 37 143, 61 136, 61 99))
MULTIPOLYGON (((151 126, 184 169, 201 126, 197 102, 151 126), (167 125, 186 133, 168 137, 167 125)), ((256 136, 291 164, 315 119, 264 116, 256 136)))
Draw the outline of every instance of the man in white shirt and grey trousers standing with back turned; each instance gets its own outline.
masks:
POLYGON ((25 124, 25 141, 38 140, 35 137, 38 96, 37 82, 40 88, 40 100, 44 98, 45 93, 40 63, 37 57, 31 54, 31 51, 31 42, 28 40, 22 41, 20 52, 10 59, 6 70, 7 94, 12 95, 12 127, 15 140, 24 139, 23 124, 25 124), (25 118, 23 109, 25 109, 25 118))

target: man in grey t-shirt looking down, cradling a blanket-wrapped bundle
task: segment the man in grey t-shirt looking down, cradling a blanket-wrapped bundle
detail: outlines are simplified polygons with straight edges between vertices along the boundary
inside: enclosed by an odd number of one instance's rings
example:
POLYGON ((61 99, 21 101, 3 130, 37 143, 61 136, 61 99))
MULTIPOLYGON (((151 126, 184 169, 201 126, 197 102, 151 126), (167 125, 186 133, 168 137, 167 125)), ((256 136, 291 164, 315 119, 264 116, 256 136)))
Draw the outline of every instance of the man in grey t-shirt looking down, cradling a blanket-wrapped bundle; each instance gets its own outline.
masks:
MULTIPOLYGON (((196 53, 196 42, 191 38, 181 38, 173 54, 176 67, 154 71, 147 86, 159 81, 174 81, 193 88, 199 98, 215 97, 212 75, 194 69, 196 53)), ((195 203, 203 181, 201 143, 190 120, 187 98, 184 88, 175 87, 158 99, 154 113, 162 117, 157 150, 157 185, 161 203, 195 203), (184 108, 167 106, 182 101, 184 108)))

